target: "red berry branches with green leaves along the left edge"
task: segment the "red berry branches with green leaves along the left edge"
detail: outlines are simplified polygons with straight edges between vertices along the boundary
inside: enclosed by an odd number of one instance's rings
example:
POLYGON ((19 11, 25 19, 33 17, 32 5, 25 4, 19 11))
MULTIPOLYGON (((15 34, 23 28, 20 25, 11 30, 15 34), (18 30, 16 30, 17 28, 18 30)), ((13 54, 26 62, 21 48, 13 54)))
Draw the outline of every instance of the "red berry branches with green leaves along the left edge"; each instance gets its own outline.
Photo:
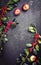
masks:
MULTIPOLYGON (((13 3, 14 2, 15 1, 13 0, 13 3)), ((16 3, 18 3, 18 0, 16 0, 16 3)), ((13 6, 15 6, 14 4, 13 4, 13 6)), ((6 43, 8 41, 7 32, 9 30, 9 28, 10 27, 14 28, 18 24, 17 20, 15 18, 13 21, 8 21, 9 17, 6 14, 8 11, 11 11, 12 8, 13 8, 12 5, 9 5, 7 3, 6 6, 2 6, 2 8, 0 9, 0 12, 1 12, 0 13, 0 54, 3 51, 2 44, 6 43)))

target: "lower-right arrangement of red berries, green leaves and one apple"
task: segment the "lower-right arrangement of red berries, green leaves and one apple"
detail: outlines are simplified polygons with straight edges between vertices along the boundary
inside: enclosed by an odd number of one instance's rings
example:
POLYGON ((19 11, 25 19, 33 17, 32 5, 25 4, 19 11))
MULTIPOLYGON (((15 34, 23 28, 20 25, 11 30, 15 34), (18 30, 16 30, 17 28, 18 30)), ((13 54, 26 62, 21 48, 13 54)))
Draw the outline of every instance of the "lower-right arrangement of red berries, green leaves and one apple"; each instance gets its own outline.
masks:
POLYGON ((37 32, 36 26, 31 24, 28 32, 33 33, 33 42, 27 43, 23 53, 20 53, 17 58, 19 65, 41 65, 41 57, 39 57, 39 50, 41 45, 41 35, 37 32))

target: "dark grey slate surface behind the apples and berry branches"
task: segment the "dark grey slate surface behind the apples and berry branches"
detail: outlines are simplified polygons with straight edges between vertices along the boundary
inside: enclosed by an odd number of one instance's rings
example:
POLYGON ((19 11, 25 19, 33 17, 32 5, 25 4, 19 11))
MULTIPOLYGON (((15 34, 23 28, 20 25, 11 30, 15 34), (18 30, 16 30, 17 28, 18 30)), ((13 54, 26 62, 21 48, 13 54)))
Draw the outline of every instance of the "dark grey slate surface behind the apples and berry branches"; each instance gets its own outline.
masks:
MULTIPOLYGON (((7 0, 3 1, 7 2, 7 0)), ((1 7, 5 2, 2 2, 2 0, 0 2, 1 7)), ((30 24, 35 24, 41 34, 41 0, 20 0, 17 7, 21 9, 23 3, 28 3, 30 9, 27 12, 21 10, 21 14, 16 17, 19 25, 13 30, 9 29, 7 33, 9 41, 4 45, 4 53, 0 57, 0 65, 16 65, 16 58, 23 52, 25 44, 32 42, 32 34, 27 31, 30 24)), ((12 21, 15 17, 13 11, 14 9, 8 12, 7 16, 10 16, 8 21, 12 21)), ((41 54, 39 55, 41 56, 41 54)))

